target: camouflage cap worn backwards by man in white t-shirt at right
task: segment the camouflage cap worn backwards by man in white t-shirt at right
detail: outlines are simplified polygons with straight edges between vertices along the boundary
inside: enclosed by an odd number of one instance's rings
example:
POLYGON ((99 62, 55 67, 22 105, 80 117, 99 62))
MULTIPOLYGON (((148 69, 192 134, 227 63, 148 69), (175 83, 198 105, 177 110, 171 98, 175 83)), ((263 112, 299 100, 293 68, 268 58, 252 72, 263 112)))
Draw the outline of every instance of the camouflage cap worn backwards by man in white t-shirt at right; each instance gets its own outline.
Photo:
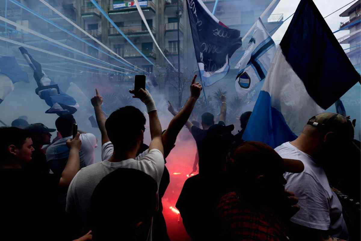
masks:
POLYGON ((355 134, 351 121, 340 114, 320 113, 309 119, 307 124, 327 132, 335 132, 342 141, 352 141, 355 134))

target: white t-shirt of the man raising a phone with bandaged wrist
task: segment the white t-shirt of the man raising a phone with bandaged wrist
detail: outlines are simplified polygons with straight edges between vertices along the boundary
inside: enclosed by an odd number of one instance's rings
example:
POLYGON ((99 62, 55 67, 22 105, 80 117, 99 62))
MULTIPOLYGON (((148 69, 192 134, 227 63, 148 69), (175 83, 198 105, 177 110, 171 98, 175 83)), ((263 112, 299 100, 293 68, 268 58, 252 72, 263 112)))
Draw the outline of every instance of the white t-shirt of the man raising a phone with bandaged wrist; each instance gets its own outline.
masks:
MULTIPOLYGON (((156 180, 158 188, 164 170, 164 157, 157 149, 145 150, 135 159, 127 159, 121 162, 109 162, 113 154, 113 144, 106 142, 102 146, 106 159, 82 168, 73 178, 68 189, 66 199, 66 211, 75 214, 86 224, 87 211, 90 207, 90 199, 93 191, 103 177, 118 168, 132 168, 147 173, 156 180)), ((158 195, 157 195, 158 196, 158 195)), ((151 235, 148 240, 151 240, 151 235)))

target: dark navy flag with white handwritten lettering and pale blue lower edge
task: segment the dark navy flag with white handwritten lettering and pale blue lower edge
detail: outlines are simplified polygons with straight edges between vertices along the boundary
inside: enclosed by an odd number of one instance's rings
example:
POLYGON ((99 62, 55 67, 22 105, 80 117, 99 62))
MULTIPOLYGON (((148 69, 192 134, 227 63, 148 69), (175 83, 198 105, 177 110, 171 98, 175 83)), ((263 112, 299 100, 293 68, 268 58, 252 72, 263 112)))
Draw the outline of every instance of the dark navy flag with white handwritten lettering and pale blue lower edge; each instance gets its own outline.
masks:
POLYGON ((229 59, 242 46, 240 31, 219 21, 202 0, 187 0, 194 50, 204 86, 226 76, 229 59))

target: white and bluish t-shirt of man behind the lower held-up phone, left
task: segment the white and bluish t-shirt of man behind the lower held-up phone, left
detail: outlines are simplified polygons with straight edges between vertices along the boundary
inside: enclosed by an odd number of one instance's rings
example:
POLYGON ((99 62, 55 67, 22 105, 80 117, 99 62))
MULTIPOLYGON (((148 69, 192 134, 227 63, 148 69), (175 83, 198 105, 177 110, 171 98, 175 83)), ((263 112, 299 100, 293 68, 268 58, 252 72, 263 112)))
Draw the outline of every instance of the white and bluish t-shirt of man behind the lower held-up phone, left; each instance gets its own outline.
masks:
MULTIPOLYGON (((46 151, 47 161, 52 160, 68 160, 69 147, 66 141, 72 137, 64 137, 50 145, 46 151)), ((82 146, 79 151, 80 168, 86 167, 94 163, 94 148, 97 147, 97 139, 91 133, 80 134, 82 146)), ((58 167, 54 167, 58 168, 58 167)), ((54 173, 62 172, 63 170, 52 170, 54 173)))

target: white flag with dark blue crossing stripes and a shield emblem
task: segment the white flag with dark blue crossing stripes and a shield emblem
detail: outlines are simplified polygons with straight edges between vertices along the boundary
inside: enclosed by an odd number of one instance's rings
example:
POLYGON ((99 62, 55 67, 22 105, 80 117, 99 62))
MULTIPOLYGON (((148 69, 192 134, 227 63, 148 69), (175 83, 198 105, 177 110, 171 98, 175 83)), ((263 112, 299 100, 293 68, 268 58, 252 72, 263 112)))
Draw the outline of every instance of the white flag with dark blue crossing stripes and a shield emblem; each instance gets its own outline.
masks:
POLYGON ((252 38, 235 67, 239 69, 235 86, 240 99, 245 98, 258 82, 266 78, 276 50, 276 44, 268 34, 261 18, 258 18, 252 38))

